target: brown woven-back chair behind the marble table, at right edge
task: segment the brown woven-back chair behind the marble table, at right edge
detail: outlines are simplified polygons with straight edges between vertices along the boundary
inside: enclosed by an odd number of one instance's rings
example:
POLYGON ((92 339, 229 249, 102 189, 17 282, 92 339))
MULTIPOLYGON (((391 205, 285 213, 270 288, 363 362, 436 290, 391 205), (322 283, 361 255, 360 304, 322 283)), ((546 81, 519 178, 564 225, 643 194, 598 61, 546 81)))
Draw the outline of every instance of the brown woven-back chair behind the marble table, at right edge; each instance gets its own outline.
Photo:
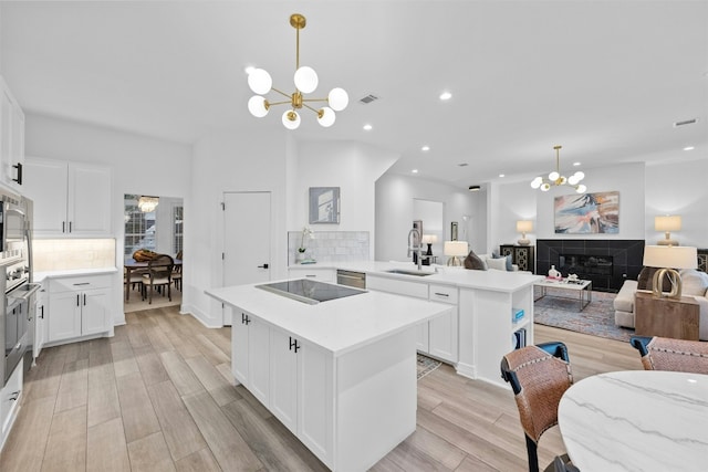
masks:
POLYGON ((708 374, 708 343, 670 337, 632 336, 645 370, 708 374))

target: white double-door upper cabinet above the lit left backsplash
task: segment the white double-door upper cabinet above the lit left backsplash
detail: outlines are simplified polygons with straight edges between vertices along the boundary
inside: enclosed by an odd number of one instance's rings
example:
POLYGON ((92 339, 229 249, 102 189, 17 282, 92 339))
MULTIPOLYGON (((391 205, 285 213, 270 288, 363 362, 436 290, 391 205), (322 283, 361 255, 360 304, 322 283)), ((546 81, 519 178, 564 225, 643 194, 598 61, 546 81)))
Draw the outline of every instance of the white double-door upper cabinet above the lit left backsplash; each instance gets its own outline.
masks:
POLYGON ((104 166, 29 157, 24 195, 34 201, 34 237, 111 237, 112 171, 104 166))

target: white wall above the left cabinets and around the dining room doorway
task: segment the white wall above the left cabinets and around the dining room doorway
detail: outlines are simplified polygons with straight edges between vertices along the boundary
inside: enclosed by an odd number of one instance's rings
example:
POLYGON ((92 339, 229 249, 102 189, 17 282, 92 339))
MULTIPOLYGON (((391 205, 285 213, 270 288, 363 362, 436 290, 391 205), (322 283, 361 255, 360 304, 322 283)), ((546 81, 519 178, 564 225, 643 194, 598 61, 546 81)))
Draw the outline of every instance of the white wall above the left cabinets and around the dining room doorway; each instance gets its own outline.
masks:
MULTIPOLYGON (((190 198, 190 146, 25 112, 25 155, 104 164, 113 169, 116 266, 123 266, 125 193, 190 198)), ((185 212, 185 219, 189 216, 185 212)), ((186 231, 188 225, 186 227, 186 231)), ((114 322, 125 322, 122 273, 115 277, 114 322)))

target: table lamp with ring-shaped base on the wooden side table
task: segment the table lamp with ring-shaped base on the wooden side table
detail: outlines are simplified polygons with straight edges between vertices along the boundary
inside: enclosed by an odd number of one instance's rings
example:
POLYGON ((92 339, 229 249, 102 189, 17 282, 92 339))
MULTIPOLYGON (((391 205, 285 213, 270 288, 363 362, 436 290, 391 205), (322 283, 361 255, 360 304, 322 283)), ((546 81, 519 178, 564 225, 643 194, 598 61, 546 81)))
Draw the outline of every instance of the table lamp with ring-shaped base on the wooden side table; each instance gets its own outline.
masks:
POLYGON ((680 298, 681 276, 676 269, 698 268, 698 251, 696 248, 681 248, 676 245, 646 245, 644 247, 644 265, 656 268, 652 280, 652 291, 656 297, 680 298), (662 291, 664 277, 668 277, 671 291, 662 291))

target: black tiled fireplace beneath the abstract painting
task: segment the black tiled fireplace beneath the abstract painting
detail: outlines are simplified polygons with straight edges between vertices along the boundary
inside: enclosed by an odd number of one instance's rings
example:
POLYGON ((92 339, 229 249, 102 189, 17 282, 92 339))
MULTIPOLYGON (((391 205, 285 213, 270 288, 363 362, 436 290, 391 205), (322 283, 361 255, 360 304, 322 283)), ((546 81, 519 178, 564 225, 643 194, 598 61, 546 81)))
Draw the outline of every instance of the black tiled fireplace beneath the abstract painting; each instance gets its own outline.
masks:
POLYGON ((593 290, 618 292, 625 280, 637 280, 642 271, 644 240, 537 240, 537 273, 551 265, 568 276, 592 281, 593 290))

